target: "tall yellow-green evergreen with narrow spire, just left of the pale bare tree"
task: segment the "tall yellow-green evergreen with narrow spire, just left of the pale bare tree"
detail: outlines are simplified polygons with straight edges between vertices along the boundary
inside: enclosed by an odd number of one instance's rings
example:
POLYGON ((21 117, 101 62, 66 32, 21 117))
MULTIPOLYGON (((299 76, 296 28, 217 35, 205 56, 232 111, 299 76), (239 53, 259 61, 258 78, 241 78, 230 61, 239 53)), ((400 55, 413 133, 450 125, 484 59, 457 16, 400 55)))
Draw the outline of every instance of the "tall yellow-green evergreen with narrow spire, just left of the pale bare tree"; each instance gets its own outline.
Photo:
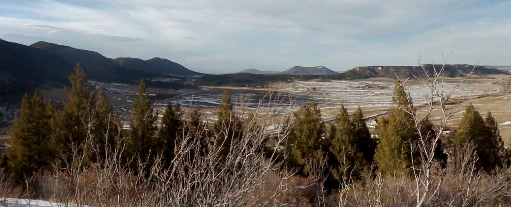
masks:
MULTIPOLYGON (((399 82, 394 85, 392 101, 397 107, 378 123, 377 133, 380 143, 375 153, 379 171, 390 175, 406 172, 406 169, 411 166, 411 153, 416 153, 411 149, 417 146, 418 140, 413 117, 405 111, 415 109, 406 98, 405 89, 399 82)), ((418 164, 416 160, 414 163, 418 164)))

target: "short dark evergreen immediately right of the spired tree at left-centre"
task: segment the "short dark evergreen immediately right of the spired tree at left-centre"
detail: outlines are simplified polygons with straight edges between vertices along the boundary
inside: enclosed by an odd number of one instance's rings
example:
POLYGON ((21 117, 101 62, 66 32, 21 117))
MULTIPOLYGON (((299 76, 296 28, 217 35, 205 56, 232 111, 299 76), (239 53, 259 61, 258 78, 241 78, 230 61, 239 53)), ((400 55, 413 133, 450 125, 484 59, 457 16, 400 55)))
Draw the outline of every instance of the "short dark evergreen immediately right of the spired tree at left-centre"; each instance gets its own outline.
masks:
POLYGON ((161 119, 161 127, 158 132, 159 141, 163 144, 163 157, 167 166, 174 159, 174 148, 181 141, 183 133, 183 120, 179 105, 167 105, 161 119))

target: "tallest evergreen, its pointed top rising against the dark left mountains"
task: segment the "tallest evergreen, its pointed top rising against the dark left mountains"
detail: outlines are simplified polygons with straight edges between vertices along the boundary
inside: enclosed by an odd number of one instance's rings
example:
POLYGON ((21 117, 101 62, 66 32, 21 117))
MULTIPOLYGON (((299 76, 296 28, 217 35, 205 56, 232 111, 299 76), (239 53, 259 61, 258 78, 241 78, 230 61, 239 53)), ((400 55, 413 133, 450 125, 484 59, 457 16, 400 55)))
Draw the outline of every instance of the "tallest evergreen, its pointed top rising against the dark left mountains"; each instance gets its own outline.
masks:
POLYGON ((85 119, 90 117, 89 110, 94 108, 90 85, 80 64, 75 66, 75 72, 69 75, 68 79, 71 89, 66 89, 67 100, 62 101, 63 110, 57 111, 51 120, 52 146, 64 162, 72 159, 73 149, 77 150, 77 153, 90 155, 90 151, 84 149, 87 139, 85 119))

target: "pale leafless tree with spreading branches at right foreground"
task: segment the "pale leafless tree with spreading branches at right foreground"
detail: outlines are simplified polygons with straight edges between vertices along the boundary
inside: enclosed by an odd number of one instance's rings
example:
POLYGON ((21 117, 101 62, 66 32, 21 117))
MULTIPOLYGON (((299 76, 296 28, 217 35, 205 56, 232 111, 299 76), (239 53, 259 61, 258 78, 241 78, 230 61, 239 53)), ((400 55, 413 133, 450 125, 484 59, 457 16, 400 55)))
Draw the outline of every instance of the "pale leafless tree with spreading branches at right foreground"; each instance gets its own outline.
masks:
POLYGON ((416 206, 426 205, 437 193, 440 185, 442 185, 444 178, 443 172, 440 172, 438 176, 433 175, 435 172, 434 168, 437 167, 434 160, 436 154, 435 150, 448 121, 460 109, 456 105, 449 105, 453 99, 453 94, 461 86, 461 84, 467 81, 475 69, 474 65, 468 74, 466 74, 461 80, 457 81, 451 89, 448 89, 446 87, 445 70, 449 59, 450 56, 444 59, 440 66, 435 65, 433 62, 432 71, 428 71, 424 64, 421 63, 421 58, 419 58, 418 63, 424 72, 421 76, 424 77, 416 76, 415 74, 412 74, 412 76, 415 81, 420 82, 423 87, 427 87, 429 89, 429 92, 424 97, 427 104, 426 107, 424 107, 424 110, 416 110, 413 106, 413 102, 411 101, 411 87, 407 85, 407 81, 410 78, 402 80, 398 75, 396 75, 400 85, 405 88, 406 98, 409 103, 409 105, 403 110, 410 114, 413 118, 414 127, 419 135, 419 143, 416 146, 410 146, 412 149, 419 152, 419 160, 421 161, 420 164, 414 163, 413 152, 410 154, 412 157, 413 177, 415 179, 414 194, 416 197, 416 206), (431 135, 429 130, 425 133, 422 129, 424 128, 423 120, 430 120, 433 110, 439 110, 442 114, 440 115, 439 123, 433 128, 435 134, 431 135), (430 137, 433 138, 431 139, 430 137))

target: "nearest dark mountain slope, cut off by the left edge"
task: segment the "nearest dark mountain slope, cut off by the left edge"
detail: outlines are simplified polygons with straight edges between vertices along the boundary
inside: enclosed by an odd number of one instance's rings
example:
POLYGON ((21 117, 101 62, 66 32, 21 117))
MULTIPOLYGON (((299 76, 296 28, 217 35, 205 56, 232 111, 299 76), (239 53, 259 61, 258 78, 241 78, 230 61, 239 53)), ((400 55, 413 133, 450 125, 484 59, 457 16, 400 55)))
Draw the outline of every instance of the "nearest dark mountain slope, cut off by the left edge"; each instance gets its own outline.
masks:
POLYGON ((0 94, 25 93, 40 84, 64 84, 73 70, 65 58, 0 39, 0 94))

